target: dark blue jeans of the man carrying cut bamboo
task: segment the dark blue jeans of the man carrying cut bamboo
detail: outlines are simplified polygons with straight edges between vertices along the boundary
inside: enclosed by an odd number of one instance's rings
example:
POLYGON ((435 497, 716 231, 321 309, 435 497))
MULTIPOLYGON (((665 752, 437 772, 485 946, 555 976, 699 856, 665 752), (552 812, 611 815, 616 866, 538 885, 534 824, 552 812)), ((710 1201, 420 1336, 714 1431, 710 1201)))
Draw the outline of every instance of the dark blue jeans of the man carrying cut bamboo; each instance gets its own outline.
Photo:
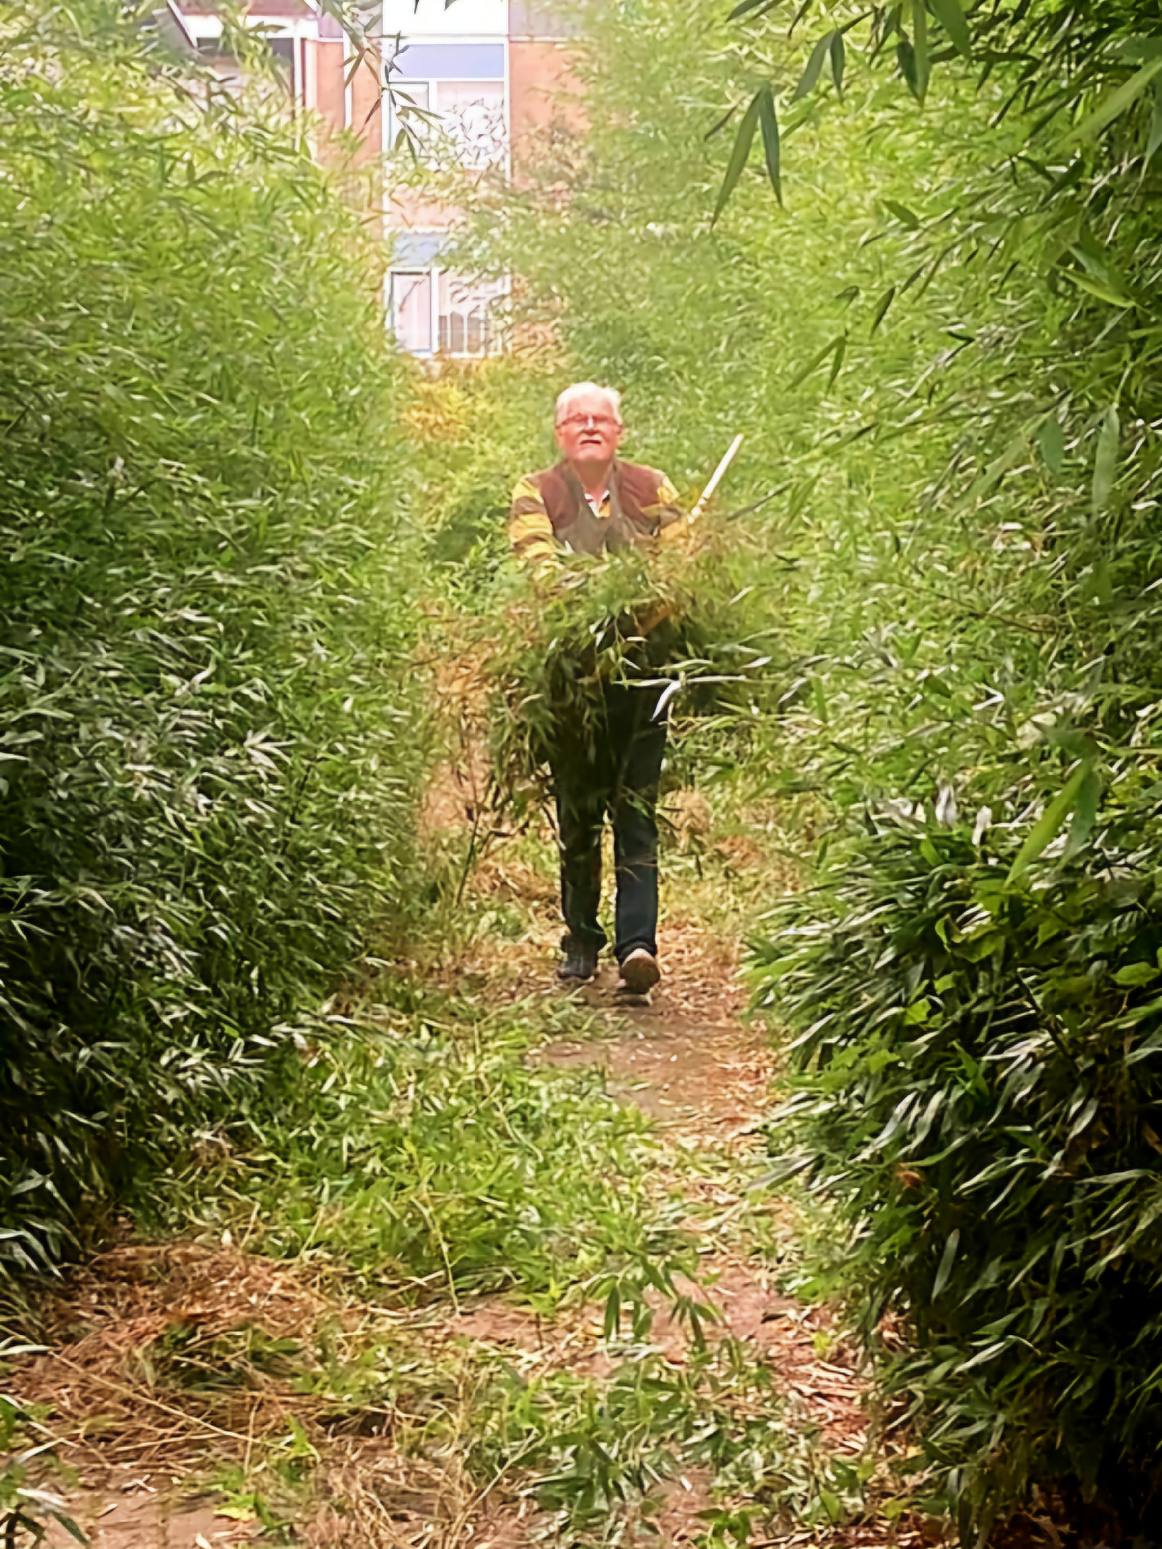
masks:
POLYGON ((569 937, 601 948, 601 830, 614 826, 617 934, 623 962, 657 953, 657 805, 666 720, 657 688, 607 686, 590 736, 570 736, 552 761, 561 832, 561 912, 569 937))

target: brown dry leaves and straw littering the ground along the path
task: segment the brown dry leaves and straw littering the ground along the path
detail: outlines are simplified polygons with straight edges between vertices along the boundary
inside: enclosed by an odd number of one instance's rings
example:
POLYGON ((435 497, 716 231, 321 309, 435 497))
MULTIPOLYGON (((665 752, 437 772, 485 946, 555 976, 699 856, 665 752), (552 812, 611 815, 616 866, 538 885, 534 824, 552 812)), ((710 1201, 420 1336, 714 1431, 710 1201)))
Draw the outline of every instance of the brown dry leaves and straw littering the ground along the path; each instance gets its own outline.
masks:
MULTIPOLYGON (((473 665, 452 666, 440 692, 449 703, 477 700, 473 665)), ((468 737, 438 771, 425 829, 463 836, 480 826, 485 799, 486 771, 468 737)), ((736 872, 764 864, 755 840, 714 840, 699 799, 676 804, 672 816, 676 844, 708 846, 720 866, 736 872)), ((517 906, 527 931, 517 940, 483 936, 443 960, 435 976, 448 987, 482 987, 491 1004, 562 994, 555 979, 555 880, 499 843, 485 847, 466 886, 476 898, 517 906)), ((649 1005, 638 1007, 615 1002, 614 968, 603 967, 593 985, 575 991, 593 1011, 598 1035, 559 1039, 535 1058, 603 1066, 610 1089, 651 1114, 676 1146, 755 1152, 762 1145, 773 1056, 765 1030, 745 1015, 737 937, 708 929, 697 909, 676 908, 663 922, 662 960, 663 984, 649 1005)), ((708 1199, 724 1211, 737 1205, 730 1188, 697 1171, 674 1173, 666 1187, 676 1185, 689 1193, 691 1208, 708 1199)), ((700 1276, 702 1286, 680 1289, 717 1307, 708 1343, 737 1341, 772 1374, 789 1424, 816 1427, 821 1447, 838 1455, 861 1455, 868 1436, 857 1358, 827 1309, 781 1295, 762 1262, 727 1250, 706 1252, 700 1276)), ((652 1307, 652 1348, 680 1369, 689 1360, 688 1324, 660 1297, 652 1307)), ((349 1351, 389 1335, 423 1360, 446 1362, 449 1371, 457 1362, 466 1366, 474 1349, 504 1354, 527 1380, 558 1371, 601 1379, 614 1369, 600 1307, 573 1307, 553 1320, 500 1298, 418 1312, 372 1307, 324 1286, 302 1264, 277 1264, 229 1242, 118 1242, 64 1278, 46 1298, 42 1321, 50 1348, 15 1358, 8 1389, 23 1405, 43 1405, 42 1430, 76 1470, 70 1501, 98 1549, 253 1541, 260 1524, 245 1510, 225 1518, 211 1504, 183 1504, 181 1490, 205 1476, 208 1458, 231 1461, 245 1475, 262 1448, 293 1425, 319 1459, 315 1506, 297 1524, 305 1544, 528 1549, 544 1541, 545 1521, 517 1489, 519 1470, 511 1478, 471 1478, 454 1436, 417 1453, 401 1445, 411 1416, 386 1405, 352 1413, 327 1396, 325 1383, 311 1394, 301 1391, 296 1377, 319 1366, 316 1331, 328 1323, 349 1351), (293 1351, 287 1369, 279 1366, 279 1346, 293 1351)), ((689 1473, 665 1495, 649 1541, 693 1544, 705 1530, 699 1513, 710 1503, 710 1479, 689 1473)), ((908 1523, 889 1532, 869 1521, 843 1532, 793 1530, 778 1543, 875 1549, 891 1541, 914 1549, 923 1530, 908 1523)))

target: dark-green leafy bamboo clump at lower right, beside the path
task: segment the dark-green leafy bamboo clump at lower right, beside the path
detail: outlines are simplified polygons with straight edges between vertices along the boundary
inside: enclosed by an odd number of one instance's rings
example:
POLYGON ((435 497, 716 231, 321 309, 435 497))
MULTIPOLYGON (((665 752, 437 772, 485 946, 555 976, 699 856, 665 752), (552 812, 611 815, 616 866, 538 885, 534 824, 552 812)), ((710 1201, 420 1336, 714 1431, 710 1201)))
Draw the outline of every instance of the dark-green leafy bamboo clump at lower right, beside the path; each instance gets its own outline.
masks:
POLYGON ((795 1035, 775 1176, 838 1208, 815 1273, 847 1295, 914 1422, 913 1479, 965 1540, 1030 1481, 1100 1489, 1123 1532, 1156 1520, 1156 796, 1112 804, 1100 844, 1102 867, 1032 875, 1007 835, 883 821, 755 948, 795 1035))

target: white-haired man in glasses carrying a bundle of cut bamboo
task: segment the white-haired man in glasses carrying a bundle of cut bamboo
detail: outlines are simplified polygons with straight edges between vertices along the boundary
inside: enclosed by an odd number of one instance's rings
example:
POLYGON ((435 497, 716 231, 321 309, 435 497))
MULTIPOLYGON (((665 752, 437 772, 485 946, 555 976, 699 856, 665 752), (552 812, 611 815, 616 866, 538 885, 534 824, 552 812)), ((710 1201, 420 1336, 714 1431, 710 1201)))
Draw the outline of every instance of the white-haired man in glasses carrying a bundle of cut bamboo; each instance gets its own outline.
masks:
MULTIPOLYGON (((519 559, 552 564, 561 550, 600 555, 652 545, 683 531, 674 486, 655 468, 618 462, 621 400, 612 387, 578 383, 556 400, 562 459, 527 474, 513 491, 508 536, 519 559)), ((641 996, 658 981, 657 804, 666 722, 657 688, 606 683, 595 731, 562 728, 552 771, 561 833, 564 981, 596 973, 606 942, 601 830, 614 826, 618 990, 641 996)))

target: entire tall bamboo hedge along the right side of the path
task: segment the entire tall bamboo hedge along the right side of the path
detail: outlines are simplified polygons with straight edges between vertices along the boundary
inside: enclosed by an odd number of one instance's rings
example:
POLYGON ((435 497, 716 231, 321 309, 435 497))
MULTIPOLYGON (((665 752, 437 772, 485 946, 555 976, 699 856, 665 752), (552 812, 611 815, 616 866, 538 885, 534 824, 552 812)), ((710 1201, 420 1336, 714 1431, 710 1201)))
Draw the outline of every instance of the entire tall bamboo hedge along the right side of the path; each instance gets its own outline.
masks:
POLYGON ((826 832, 756 953, 799 1038, 772 1145, 872 1345, 903 1321, 933 1479, 965 1529, 1050 1475, 1125 1504, 1162 1437, 1157 6, 725 9, 593 5, 589 127, 479 251, 679 479, 748 432, 787 677, 748 774, 826 832), (838 26, 843 99, 803 87, 838 26), (782 204, 756 150, 714 222, 765 88, 782 204))

